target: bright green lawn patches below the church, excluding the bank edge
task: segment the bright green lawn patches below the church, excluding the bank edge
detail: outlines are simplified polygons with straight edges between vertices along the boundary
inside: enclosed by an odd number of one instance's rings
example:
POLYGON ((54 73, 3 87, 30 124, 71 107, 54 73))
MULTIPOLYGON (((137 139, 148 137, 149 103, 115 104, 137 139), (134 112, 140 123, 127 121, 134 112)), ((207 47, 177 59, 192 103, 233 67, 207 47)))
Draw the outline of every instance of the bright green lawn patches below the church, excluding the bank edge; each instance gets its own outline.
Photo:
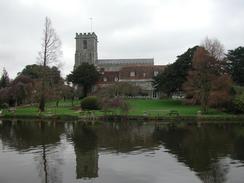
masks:
MULTIPOLYGON (((168 116, 170 111, 177 111, 180 116, 196 116, 197 112, 201 110, 200 106, 192 106, 182 104, 180 101, 164 99, 164 100, 149 100, 149 99, 128 99, 130 105, 129 115, 142 116, 145 113, 149 116, 168 116)), ((80 105, 79 100, 74 101, 74 107, 71 106, 71 101, 62 100, 59 102, 59 107, 56 107, 56 101, 51 101, 46 104, 46 111, 42 113, 44 116, 80 116, 78 111, 80 105)), ((11 116, 13 113, 5 112, 6 115, 11 116)), ((97 116, 103 115, 100 111, 95 111, 97 116)), ((34 106, 20 106, 17 107, 16 116, 38 116, 37 105, 34 106)), ((208 115, 225 116, 227 114, 219 112, 215 109, 210 109, 208 115)), ((207 115, 207 116, 208 116, 207 115)))

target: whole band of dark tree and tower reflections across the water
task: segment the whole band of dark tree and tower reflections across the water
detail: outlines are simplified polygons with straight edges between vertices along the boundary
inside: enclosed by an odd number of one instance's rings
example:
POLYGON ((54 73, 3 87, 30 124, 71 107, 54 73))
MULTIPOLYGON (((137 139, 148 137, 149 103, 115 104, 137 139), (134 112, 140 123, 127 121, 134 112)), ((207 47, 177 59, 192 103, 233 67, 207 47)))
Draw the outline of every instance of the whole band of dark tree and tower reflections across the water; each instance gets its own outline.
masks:
MULTIPOLYGON (((35 157, 43 182, 61 182, 62 161, 57 148, 64 123, 3 122, 3 145, 24 152, 38 149, 35 157), (55 151, 55 153, 53 153, 55 151)), ((88 126, 66 123, 66 133, 74 144, 76 176, 98 176, 98 149, 118 153, 141 153, 163 144, 178 161, 195 171, 203 182, 226 181, 225 157, 244 160, 244 128, 227 125, 153 126, 140 123, 106 123, 88 126)))

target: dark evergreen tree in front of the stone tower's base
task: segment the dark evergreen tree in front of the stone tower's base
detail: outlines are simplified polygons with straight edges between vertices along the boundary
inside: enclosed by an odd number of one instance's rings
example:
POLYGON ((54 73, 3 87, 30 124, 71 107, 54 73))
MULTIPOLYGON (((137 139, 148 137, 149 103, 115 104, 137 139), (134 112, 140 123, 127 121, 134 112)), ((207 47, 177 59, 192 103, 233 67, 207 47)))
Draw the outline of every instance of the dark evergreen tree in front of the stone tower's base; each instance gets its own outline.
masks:
POLYGON ((82 87, 83 96, 86 97, 99 77, 100 74, 94 65, 82 63, 67 76, 67 81, 82 87))

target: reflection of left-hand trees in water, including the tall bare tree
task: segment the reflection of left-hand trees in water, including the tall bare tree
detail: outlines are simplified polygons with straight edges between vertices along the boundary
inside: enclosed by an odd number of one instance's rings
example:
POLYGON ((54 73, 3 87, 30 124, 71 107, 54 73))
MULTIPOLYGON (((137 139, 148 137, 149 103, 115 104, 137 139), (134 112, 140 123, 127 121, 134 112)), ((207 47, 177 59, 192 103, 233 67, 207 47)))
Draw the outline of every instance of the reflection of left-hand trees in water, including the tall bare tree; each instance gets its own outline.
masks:
POLYGON ((0 127, 3 144, 17 151, 38 148, 35 157, 43 182, 62 182, 59 166, 62 161, 53 154, 63 132, 63 124, 55 122, 7 121, 0 127))

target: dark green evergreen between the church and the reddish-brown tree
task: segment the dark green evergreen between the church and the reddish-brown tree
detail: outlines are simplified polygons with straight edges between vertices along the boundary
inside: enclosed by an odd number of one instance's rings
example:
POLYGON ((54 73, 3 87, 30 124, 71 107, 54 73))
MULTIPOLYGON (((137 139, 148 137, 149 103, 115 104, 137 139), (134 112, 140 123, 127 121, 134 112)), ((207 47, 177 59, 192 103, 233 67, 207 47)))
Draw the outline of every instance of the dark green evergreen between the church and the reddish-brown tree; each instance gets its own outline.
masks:
POLYGON ((156 90, 170 96, 176 91, 182 91, 182 84, 186 81, 188 71, 191 69, 192 58, 198 46, 189 48, 177 60, 168 65, 162 73, 154 77, 153 85, 156 90))

